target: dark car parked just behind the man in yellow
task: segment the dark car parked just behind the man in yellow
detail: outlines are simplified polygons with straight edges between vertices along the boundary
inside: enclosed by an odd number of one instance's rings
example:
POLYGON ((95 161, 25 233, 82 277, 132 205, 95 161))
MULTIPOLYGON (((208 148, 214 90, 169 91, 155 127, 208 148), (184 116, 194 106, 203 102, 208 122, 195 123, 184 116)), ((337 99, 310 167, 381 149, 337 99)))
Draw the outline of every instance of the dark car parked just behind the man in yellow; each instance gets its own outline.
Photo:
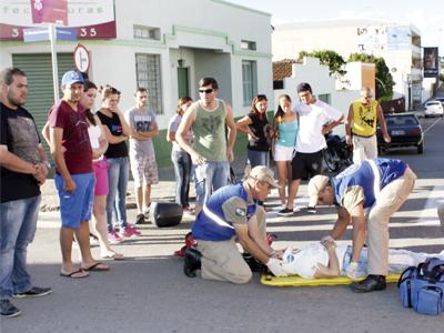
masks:
POLYGON ((398 147, 416 147, 417 153, 424 152, 424 133, 416 115, 411 112, 385 114, 387 131, 392 142, 386 143, 377 127, 377 149, 380 154, 385 150, 398 147))

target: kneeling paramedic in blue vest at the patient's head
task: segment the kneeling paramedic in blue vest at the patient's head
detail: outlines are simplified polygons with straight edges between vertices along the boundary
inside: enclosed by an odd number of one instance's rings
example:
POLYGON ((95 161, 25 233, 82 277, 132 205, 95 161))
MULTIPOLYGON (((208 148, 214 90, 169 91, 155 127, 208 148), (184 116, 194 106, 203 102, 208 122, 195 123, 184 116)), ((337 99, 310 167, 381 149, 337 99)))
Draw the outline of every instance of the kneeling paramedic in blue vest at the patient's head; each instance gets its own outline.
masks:
POLYGON ((203 205, 192 228, 202 254, 202 279, 236 284, 252 279, 236 241, 274 275, 286 275, 276 251, 266 242, 265 212, 255 203, 279 188, 273 175, 269 168, 255 167, 243 182, 219 189, 203 205))

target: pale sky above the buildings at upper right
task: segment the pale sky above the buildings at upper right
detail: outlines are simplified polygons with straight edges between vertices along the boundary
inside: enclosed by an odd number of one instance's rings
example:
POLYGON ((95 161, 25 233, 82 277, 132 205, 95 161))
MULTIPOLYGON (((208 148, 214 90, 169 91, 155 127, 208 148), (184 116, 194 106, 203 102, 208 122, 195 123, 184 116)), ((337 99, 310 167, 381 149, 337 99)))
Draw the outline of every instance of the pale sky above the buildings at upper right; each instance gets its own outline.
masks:
POLYGON ((272 24, 333 19, 408 22, 421 30, 422 46, 444 56, 444 0, 229 0, 272 14, 272 24))

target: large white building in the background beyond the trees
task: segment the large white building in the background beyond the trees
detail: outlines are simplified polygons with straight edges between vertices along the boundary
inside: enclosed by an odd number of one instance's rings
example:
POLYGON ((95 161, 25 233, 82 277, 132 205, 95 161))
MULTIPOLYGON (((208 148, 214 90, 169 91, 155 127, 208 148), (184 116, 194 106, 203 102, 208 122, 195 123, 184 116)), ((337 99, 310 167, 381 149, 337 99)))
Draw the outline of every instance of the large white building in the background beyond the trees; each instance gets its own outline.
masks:
POLYGON ((373 20, 287 23, 275 27, 272 48, 273 60, 295 59, 303 50, 334 50, 345 61, 351 53, 382 57, 396 83, 394 98, 404 95, 412 108, 421 104, 421 32, 412 24, 373 20))

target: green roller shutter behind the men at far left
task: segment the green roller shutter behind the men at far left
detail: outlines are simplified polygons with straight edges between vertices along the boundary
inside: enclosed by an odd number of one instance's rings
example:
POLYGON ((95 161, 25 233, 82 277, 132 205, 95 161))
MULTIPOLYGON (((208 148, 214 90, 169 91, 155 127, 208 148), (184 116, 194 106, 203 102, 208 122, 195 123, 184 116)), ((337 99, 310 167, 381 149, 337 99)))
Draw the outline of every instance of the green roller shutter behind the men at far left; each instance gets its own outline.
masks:
MULTIPOLYGON (((59 84, 64 72, 74 70, 72 53, 59 53, 57 57, 59 67, 59 84)), ((54 104, 52 87, 52 63, 50 53, 12 54, 14 67, 24 71, 28 78, 28 99, 24 108, 33 115, 39 132, 48 119, 48 111, 54 104)), ((61 92, 60 92, 61 93, 61 92)), ((42 139, 42 141, 44 141, 42 139)), ((50 158, 49 149, 43 143, 50 158)))

